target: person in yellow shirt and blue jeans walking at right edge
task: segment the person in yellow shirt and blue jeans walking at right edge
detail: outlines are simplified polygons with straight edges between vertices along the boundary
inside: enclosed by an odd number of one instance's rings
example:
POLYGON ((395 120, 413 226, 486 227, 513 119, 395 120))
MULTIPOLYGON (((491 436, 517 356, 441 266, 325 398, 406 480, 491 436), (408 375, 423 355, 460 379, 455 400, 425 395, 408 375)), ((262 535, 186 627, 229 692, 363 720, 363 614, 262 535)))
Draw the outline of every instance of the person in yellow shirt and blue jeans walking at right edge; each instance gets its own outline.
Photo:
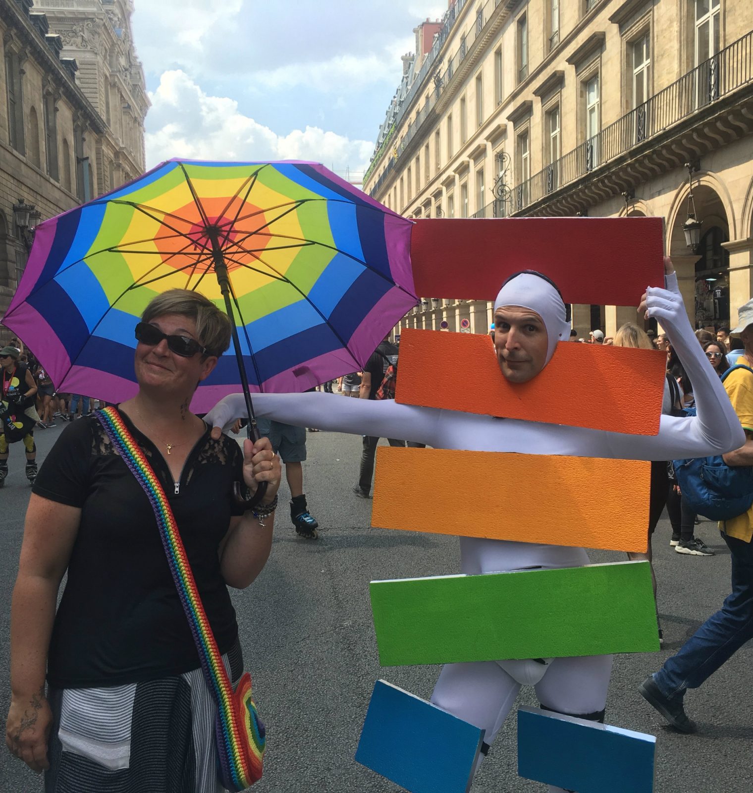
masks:
MULTIPOLYGON (((737 365, 753 369, 753 300, 739 310, 739 334, 745 351, 737 365)), ((724 454, 727 465, 753 465, 753 373, 739 369, 724 380, 732 408, 745 431, 745 444, 724 454)), ((721 536, 732 558, 732 592, 720 611, 701 625, 693 636, 659 672, 640 684, 640 694, 684 733, 697 726, 687 717, 683 697, 688 688, 698 688, 728 658, 753 638, 753 507, 742 515, 719 524, 721 536)))

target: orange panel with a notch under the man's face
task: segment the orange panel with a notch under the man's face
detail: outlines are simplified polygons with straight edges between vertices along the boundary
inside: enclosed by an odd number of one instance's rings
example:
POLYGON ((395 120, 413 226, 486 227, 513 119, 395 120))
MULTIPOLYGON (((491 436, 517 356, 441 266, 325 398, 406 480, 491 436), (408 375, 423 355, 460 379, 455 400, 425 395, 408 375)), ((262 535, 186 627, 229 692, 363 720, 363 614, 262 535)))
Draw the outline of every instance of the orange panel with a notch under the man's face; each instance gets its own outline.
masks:
POLYGON ((406 328, 400 334, 396 400, 482 416, 656 435, 666 365, 659 350, 560 342, 541 374, 527 383, 510 383, 499 370, 487 335, 406 328))

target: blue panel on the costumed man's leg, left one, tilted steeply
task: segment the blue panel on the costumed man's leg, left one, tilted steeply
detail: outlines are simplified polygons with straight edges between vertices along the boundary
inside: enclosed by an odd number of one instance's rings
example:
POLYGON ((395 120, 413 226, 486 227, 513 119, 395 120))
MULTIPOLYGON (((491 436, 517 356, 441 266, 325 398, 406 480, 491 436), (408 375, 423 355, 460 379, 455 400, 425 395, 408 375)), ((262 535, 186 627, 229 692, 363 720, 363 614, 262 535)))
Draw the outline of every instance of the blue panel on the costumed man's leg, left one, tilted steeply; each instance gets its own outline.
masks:
POLYGON ((411 793, 468 793, 484 730, 377 680, 356 760, 411 793))

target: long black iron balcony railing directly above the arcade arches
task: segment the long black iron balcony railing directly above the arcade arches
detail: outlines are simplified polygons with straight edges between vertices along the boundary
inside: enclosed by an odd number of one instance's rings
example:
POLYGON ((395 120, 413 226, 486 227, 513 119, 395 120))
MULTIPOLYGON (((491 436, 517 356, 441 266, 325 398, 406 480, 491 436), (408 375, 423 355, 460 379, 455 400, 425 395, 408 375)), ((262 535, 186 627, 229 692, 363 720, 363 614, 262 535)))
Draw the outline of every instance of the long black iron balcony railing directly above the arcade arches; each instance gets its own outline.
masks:
MULTIPOLYGON (((513 188, 510 213, 642 144, 753 79, 753 31, 513 188)), ((491 205, 490 205, 491 206, 491 205)), ((484 207, 485 211, 487 208, 484 207)), ((487 216, 487 215, 483 215, 487 216)))

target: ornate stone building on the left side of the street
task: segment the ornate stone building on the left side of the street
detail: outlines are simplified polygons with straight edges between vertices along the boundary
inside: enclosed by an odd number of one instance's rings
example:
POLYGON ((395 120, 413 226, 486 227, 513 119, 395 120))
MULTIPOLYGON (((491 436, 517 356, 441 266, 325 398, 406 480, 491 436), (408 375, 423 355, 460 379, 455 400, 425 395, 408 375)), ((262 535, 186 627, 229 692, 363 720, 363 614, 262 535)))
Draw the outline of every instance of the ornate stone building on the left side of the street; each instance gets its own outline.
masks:
POLYGON ((131 0, 0 0, 0 317, 32 242, 13 207, 46 220, 144 170, 132 11, 131 0))

